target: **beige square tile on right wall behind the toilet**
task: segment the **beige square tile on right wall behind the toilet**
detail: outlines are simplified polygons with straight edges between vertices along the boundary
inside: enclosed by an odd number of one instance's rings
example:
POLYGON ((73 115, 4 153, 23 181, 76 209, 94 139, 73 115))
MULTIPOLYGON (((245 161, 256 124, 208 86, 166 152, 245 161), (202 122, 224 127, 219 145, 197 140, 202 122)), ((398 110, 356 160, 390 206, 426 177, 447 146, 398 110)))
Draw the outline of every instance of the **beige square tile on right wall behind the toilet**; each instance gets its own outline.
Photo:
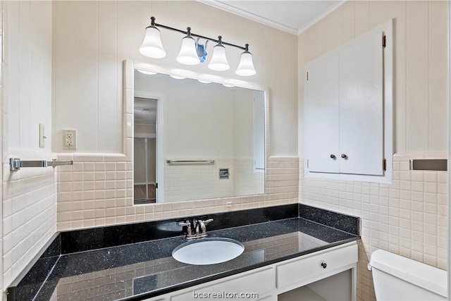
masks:
POLYGON ((366 269, 375 250, 447 269, 446 171, 409 170, 409 159, 425 157, 446 158, 446 154, 395 154, 390 185, 304 178, 299 168, 299 202, 362 219, 359 300, 376 300, 371 272, 366 269))

